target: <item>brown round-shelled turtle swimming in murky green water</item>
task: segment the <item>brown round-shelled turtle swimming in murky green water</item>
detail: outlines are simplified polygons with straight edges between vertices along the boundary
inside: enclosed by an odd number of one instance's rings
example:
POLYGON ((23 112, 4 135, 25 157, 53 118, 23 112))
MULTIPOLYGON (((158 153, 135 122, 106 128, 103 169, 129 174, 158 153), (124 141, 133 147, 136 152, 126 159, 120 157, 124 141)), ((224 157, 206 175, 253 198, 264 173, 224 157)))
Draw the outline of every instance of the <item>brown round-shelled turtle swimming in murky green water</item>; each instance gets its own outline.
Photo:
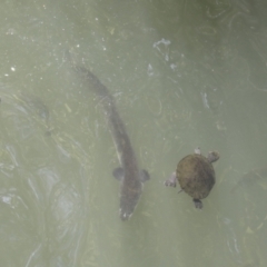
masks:
POLYGON ((200 199, 209 195, 215 184, 215 170, 211 164, 218 159, 218 152, 211 151, 206 158, 197 148, 195 154, 186 156, 178 162, 176 172, 165 181, 165 185, 176 187, 178 180, 181 190, 192 197, 196 208, 201 209, 200 199))

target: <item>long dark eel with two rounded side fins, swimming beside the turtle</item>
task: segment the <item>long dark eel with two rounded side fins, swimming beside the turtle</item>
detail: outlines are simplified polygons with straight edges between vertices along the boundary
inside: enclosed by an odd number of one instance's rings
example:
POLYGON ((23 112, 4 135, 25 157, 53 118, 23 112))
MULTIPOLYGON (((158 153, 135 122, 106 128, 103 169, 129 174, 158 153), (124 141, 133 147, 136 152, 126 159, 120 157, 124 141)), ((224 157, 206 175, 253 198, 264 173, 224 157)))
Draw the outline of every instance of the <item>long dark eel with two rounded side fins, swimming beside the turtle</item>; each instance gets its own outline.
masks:
POLYGON ((122 220, 127 220, 131 217, 138 204, 144 182, 149 179, 149 174, 147 170, 139 170, 138 168, 137 158, 127 135, 126 126, 116 109, 113 97, 107 87, 85 67, 75 66, 75 70, 88 81, 103 107, 121 166, 113 170, 113 176, 120 180, 119 214, 122 220))

